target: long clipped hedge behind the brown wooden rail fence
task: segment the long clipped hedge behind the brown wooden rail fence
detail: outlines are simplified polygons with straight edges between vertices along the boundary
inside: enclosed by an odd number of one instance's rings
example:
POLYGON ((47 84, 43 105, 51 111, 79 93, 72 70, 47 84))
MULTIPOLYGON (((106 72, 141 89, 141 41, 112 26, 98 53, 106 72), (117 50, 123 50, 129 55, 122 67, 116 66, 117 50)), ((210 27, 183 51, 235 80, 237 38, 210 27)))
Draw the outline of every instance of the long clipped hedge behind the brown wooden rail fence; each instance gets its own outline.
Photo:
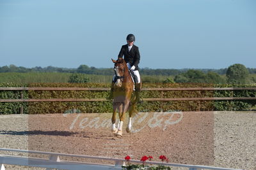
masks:
MULTIPOLYGON (((109 83, 1 83, 1 87, 110 87, 109 83)), ((144 83, 143 87, 252 87, 246 85, 212 85, 203 83, 144 83)), ((20 99, 20 91, 0 91, 1 99, 20 99)), ((24 99, 51 98, 106 98, 108 91, 22 91, 24 99)), ((204 90, 204 91, 142 91, 141 97, 255 97, 256 90, 204 90)), ((152 101, 138 104, 138 111, 212 111, 251 110, 256 102, 248 101, 152 101)), ((112 103, 104 102, 33 102, 0 103, 0 114, 19 114, 23 106, 27 114, 47 113, 111 113, 112 103)))

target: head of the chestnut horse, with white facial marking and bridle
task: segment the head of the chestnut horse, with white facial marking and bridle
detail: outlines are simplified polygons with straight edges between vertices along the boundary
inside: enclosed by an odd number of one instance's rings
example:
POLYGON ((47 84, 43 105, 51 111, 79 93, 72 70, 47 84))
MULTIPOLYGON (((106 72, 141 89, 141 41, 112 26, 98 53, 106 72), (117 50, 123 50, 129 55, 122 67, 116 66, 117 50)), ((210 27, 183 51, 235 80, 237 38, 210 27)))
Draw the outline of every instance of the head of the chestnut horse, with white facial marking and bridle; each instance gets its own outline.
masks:
POLYGON ((122 86, 122 81, 120 80, 124 80, 125 78, 125 71, 128 71, 128 67, 126 66, 125 60, 124 59, 118 59, 118 60, 113 60, 111 59, 114 63, 114 71, 115 71, 115 75, 116 75, 116 85, 118 87, 122 86))

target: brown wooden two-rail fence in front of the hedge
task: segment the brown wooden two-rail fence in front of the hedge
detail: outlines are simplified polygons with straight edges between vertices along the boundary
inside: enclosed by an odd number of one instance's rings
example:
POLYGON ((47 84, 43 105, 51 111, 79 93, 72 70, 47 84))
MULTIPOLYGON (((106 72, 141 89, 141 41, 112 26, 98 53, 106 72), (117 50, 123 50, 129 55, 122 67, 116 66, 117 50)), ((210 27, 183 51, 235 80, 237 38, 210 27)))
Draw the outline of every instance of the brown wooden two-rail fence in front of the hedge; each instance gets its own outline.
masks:
MULTIPOLYGON (((84 88, 84 87, 0 87, 0 91, 7 90, 43 90, 43 91, 69 91, 69 90, 88 90, 88 91, 108 91, 110 88, 84 88)), ((202 90, 256 90, 256 87, 225 87, 225 88, 213 88, 213 87, 195 87, 195 88, 142 88, 142 91, 202 91, 202 90)), ((23 95, 20 95, 21 99, 0 99, 0 102, 88 102, 88 101, 108 101, 107 99, 23 99, 23 95)), ((217 100, 256 100, 256 97, 178 97, 178 98, 144 98, 143 101, 217 101, 217 100)))

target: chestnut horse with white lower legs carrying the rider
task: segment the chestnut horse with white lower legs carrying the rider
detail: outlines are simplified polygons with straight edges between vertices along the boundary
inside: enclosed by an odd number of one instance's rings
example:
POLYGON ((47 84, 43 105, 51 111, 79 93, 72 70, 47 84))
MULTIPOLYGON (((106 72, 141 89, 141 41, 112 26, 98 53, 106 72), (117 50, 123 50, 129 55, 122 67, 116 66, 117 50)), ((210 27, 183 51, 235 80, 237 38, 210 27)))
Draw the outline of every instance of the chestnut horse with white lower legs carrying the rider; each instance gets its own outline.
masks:
POLYGON ((132 115, 138 113, 136 110, 136 99, 132 96, 134 83, 129 73, 129 69, 124 59, 113 60, 115 63, 116 83, 113 89, 113 115, 112 115, 112 132, 116 136, 122 136, 122 126, 124 124, 125 112, 129 111, 129 122, 126 131, 131 132, 132 115), (119 122, 116 128, 116 111, 118 110, 119 122))

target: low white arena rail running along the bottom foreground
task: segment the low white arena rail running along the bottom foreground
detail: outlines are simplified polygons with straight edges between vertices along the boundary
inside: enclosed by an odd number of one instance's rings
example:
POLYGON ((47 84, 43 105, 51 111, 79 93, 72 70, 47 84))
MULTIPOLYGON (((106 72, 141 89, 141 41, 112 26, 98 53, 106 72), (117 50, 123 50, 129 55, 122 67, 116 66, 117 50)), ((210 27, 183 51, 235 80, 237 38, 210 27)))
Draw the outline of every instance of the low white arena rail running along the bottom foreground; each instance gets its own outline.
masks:
MULTIPOLYGON (((38 152, 30 150, 16 150, 8 148, 0 148, 0 151, 5 152, 24 152, 24 153, 35 153, 36 155, 49 155, 49 159, 41 159, 35 157, 17 157, 12 155, 0 155, 0 170, 5 170, 4 164, 16 165, 16 166, 29 166, 29 167, 43 167, 49 169, 95 169, 95 170, 105 170, 105 169, 122 169, 124 165, 124 159, 113 159, 109 157, 95 157, 88 155, 74 155, 67 153, 54 153, 54 152, 38 152), (94 160, 109 160, 115 162, 113 165, 108 164, 92 164, 86 162, 68 162, 65 160, 60 160, 60 157, 78 157, 94 160)), ((132 163, 141 163, 140 160, 130 160, 132 163)), ((235 170, 224 167, 212 167, 212 166, 196 166, 188 164, 172 164, 172 163, 162 163, 162 162, 147 162, 148 164, 154 165, 164 165, 172 167, 187 167, 189 170, 198 169, 215 169, 215 170, 235 170)))

